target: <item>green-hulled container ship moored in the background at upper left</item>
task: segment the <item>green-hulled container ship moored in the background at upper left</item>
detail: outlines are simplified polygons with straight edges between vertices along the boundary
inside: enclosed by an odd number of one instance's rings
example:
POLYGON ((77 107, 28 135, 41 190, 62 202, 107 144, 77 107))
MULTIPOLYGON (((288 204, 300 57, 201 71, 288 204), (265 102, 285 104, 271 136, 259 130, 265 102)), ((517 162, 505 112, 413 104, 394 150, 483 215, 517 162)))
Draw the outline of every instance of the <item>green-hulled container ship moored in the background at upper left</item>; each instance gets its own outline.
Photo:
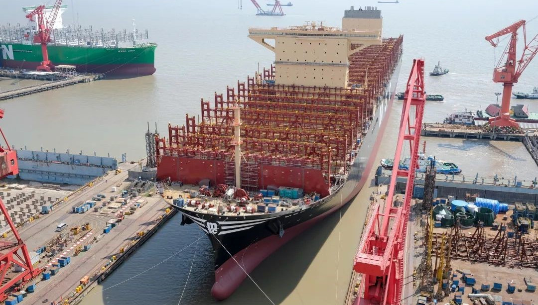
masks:
MULTIPOLYGON (((23 8, 25 14, 36 6, 23 8)), ((47 6, 46 16, 53 7, 47 6)), ((60 6, 48 43, 48 57, 54 66, 76 66, 80 73, 103 73, 107 76, 143 76, 155 72, 155 48, 157 44, 148 42, 147 31, 133 30, 116 32, 102 28, 63 26, 61 14, 67 9, 60 6)), ((36 23, 0 25, 0 67, 34 70, 43 61, 41 43, 34 41, 36 23)), ((39 39, 38 39, 39 40, 39 39)))

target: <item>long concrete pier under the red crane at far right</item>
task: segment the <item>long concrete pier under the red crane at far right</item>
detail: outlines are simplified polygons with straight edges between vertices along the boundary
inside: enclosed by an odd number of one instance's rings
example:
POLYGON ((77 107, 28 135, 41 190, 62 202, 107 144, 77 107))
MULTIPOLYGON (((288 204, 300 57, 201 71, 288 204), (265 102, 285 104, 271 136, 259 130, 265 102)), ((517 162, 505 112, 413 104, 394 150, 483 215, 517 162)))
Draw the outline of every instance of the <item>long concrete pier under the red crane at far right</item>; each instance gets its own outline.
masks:
POLYGON ((424 123, 421 136, 459 137, 463 139, 485 139, 504 141, 523 141, 525 136, 538 136, 536 128, 495 129, 484 126, 468 126, 456 124, 424 123))

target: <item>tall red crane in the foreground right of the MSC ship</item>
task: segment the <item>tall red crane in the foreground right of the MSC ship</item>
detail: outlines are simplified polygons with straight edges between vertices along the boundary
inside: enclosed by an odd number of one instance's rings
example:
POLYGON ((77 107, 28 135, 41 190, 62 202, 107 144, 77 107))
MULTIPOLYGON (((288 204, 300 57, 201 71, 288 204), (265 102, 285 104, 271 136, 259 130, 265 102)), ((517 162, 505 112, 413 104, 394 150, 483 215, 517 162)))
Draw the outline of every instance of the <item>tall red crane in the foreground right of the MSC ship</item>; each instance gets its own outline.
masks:
POLYGON ((364 301, 379 305, 401 303, 407 222, 415 169, 418 166, 425 100, 424 60, 415 59, 407 81, 394 154, 394 164, 399 164, 404 142, 409 141, 410 170, 401 170, 398 166, 393 167, 385 208, 382 211, 379 205, 373 207, 372 216, 363 231, 353 269, 363 274, 359 296, 362 293, 364 295, 362 298, 357 297, 355 304, 364 301), (407 178, 404 203, 399 207, 393 206, 397 177, 407 178))

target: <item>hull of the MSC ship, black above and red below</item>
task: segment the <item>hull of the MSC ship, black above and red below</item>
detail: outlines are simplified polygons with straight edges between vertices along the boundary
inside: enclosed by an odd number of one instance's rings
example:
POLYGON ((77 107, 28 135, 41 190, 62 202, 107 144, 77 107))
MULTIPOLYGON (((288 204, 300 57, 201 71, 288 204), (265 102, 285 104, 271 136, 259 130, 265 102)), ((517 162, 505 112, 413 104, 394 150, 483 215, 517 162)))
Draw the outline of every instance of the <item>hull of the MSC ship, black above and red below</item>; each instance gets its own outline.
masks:
MULTIPOLYGON (((390 82, 385 86, 384 95, 379 98, 370 127, 362 139, 363 143, 356 153, 348 177, 337 188, 333 188, 332 193, 327 197, 299 208, 263 215, 243 213, 239 216, 215 215, 193 212, 172 205, 182 213, 182 224, 196 223, 208 235, 214 250, 217 282, 219 272, 222 274, 228 272, 226 271, 228 267, 223 267, 223 265, 231 264, 237 267, 239 259, 230 259, 231 256, 246 259, 245 251, 263 251, 254 255, 251 253, 255 257, 253 262, 242 262, 240 273, 250 272, 265 257, 293 236, 298 235, 300 233, 298 231, 304 231, 313 223, 348 204, 357 195, 375 163, 374 158, 381 142, 381 134, 385 129, 388 113, 394 100, 399 70, 400 62, 394 69, 390 82), (301 227, 301 229, 296 227, 301 227), (235 262, 231 262, 232 260, 235 262)), ((213 295, 220 299, 214 292, 213 295)))

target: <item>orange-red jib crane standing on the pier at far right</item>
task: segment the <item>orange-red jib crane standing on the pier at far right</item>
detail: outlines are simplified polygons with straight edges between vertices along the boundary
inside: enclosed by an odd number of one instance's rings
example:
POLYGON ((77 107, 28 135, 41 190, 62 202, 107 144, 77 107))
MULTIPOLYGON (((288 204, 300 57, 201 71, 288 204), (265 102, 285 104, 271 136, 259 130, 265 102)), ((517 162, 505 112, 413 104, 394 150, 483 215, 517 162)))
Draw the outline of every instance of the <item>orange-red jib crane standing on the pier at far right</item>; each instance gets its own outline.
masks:
POLYGON ((493 82, 502 83, 502 103, 501 110, 496 118, 490 118, 490 124, 492 126, 509 126, 519 128, 518 123, 510 117, 510 98, 512 96, 512 87, 514 83, 518 82, 521 73, 527 68, 530 61, 534 58, 538 52, 538 35, 527 43, 527 34, 525 31, 525 20, 519 20, 518 22, 503 28, 499 32, 486 36, 486 40, 491 43, 493 47, 498 46, 498 38, 507 34, 511 34, 510 41, 506 46, 504 53, 502 54, 497 66, 493 70, 493 82), (523 54, 521 58, 516 61, 515 50, 518 41, 518 30, 523 28, 523 54), (494 41, 497 39, 497 41, 494 41), (506 61, 503 60, 506 58, 506 61))

